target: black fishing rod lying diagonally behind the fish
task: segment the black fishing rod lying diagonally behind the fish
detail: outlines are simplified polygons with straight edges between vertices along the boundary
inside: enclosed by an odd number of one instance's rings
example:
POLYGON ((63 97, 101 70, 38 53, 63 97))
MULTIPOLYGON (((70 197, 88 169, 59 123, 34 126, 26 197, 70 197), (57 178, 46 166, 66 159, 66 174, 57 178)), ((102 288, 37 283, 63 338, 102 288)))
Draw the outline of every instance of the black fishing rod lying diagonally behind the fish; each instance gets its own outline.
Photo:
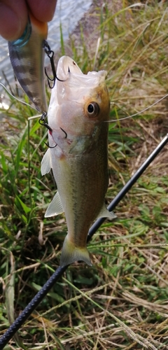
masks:
MULTIPOLYGON (((162 139, 160 144, 155 148, 155 150, 149 155, 149 157, 146 159, 146 161, 141 165, 141 167, 137 170, 137 172, 132 176, 132 178, 126 183, 126 185, 120 190, 118 195, 113 199, 111 204, 109 204, 109 211, 112 211, 118 203, 123 200, 123 197, 126 195, 126 193, 132 188, 134 183, 139 179, 141 174, 144 173, 146 168, 151 164, 151 162, 156 158, 158 153, 162 151, 162 148, 167 144, 168 142, 168 134, 162 139)), ((89 230, 89 233, 87 235, 87 242, 90 241, 94 233, 97 231, 97 229, 104 223, 106 218, 99 218, 95 223, 92 225, 92 227, 89 230)), ((43 300, 43 297, 49 292, 49 290, 52 288, 52 286, 57 282, 59 277, 62 276, 62 274, 66 271, 67 267, 58 267, 57 270, 50 276, 50 279, 44 284, 44 286, 39 290, 39 292, 35 295, 35 297, 29 302, 27 307, 22 311, 22 314, 16 318, 16 320, 13 322, 12 325, 8 328, 8 330, 3 334, 3 336, 0 338, 0 350, 3 349, 6 344, 8 344, 8 341, 15 335, 15 332, 19 330, 21 325, 27 320, 27 318, 31 315, 31 313, 36 309, 38 304, 40 304, 41 300, 43 300)))

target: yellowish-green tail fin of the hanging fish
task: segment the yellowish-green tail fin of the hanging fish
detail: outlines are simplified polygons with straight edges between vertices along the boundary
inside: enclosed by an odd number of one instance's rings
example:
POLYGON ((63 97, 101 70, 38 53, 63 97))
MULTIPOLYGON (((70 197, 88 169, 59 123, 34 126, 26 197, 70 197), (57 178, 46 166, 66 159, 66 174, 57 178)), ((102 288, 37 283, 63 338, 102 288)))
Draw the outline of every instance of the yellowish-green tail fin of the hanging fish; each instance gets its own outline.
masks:
POLYGON ((87 248, 76 247, 75 244, 69 241, 68 236, 66 236, 62 247, 60 266, 64 267, 78 260, 83 260, 87 263, 87 265, 92 266, 92 262, 90 260, 90 255, 87 251, 87 248))

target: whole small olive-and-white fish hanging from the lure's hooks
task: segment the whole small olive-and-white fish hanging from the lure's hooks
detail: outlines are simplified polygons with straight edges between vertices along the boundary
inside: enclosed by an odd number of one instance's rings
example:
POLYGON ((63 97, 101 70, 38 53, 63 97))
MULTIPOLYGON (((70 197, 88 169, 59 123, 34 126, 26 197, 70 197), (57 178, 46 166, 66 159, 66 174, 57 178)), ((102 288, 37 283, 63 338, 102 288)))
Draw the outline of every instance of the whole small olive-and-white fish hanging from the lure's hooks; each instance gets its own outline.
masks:
POLYGON ((96 218, 116 218, 104 204, 108 187, 108 123, 110 100, 106 71, 87 75, 70 57, 57 65, 57 78, 48 109, 49 148, 41 174, 52 172, 57 193, 45 218, 65 213, 68 234, 60 265, 76 260, 92 265, 87 233, 96 218))

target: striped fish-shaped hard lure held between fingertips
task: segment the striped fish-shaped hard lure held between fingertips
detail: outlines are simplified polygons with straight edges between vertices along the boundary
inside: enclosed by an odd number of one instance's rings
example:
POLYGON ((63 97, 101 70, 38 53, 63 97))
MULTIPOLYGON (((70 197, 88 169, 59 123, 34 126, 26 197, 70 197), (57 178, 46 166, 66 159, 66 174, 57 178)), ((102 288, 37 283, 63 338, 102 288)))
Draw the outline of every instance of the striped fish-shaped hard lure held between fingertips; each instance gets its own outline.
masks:
POLYGON ((43 45, 47 34, 47 23, 39 22, 29 13, 29 22, 22 36, 18 40, 8 41, 15 76, 37 111, 42 113, 47 111, 43 69, 43 45))

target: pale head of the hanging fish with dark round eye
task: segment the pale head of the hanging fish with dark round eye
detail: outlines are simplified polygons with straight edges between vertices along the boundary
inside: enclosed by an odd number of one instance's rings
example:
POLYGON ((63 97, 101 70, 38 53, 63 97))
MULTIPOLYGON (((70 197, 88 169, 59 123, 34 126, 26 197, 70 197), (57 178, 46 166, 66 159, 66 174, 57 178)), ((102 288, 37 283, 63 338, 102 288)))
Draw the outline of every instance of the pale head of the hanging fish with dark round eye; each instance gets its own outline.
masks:
POLYGON ((73 137, 79 134, 81 136, 82 132, 86 137, 91 130, 93 132, 95 123, 109 119, 106 74, 106 71, 89 71, 84 74, 70 57, 63 56, 59 59, 59 80, 56 80, 53 87, 48 109, 48 123, 52 130, 55 129, 56 123, 57 127, 62 127, 68 135, 72 133, 73 137))

